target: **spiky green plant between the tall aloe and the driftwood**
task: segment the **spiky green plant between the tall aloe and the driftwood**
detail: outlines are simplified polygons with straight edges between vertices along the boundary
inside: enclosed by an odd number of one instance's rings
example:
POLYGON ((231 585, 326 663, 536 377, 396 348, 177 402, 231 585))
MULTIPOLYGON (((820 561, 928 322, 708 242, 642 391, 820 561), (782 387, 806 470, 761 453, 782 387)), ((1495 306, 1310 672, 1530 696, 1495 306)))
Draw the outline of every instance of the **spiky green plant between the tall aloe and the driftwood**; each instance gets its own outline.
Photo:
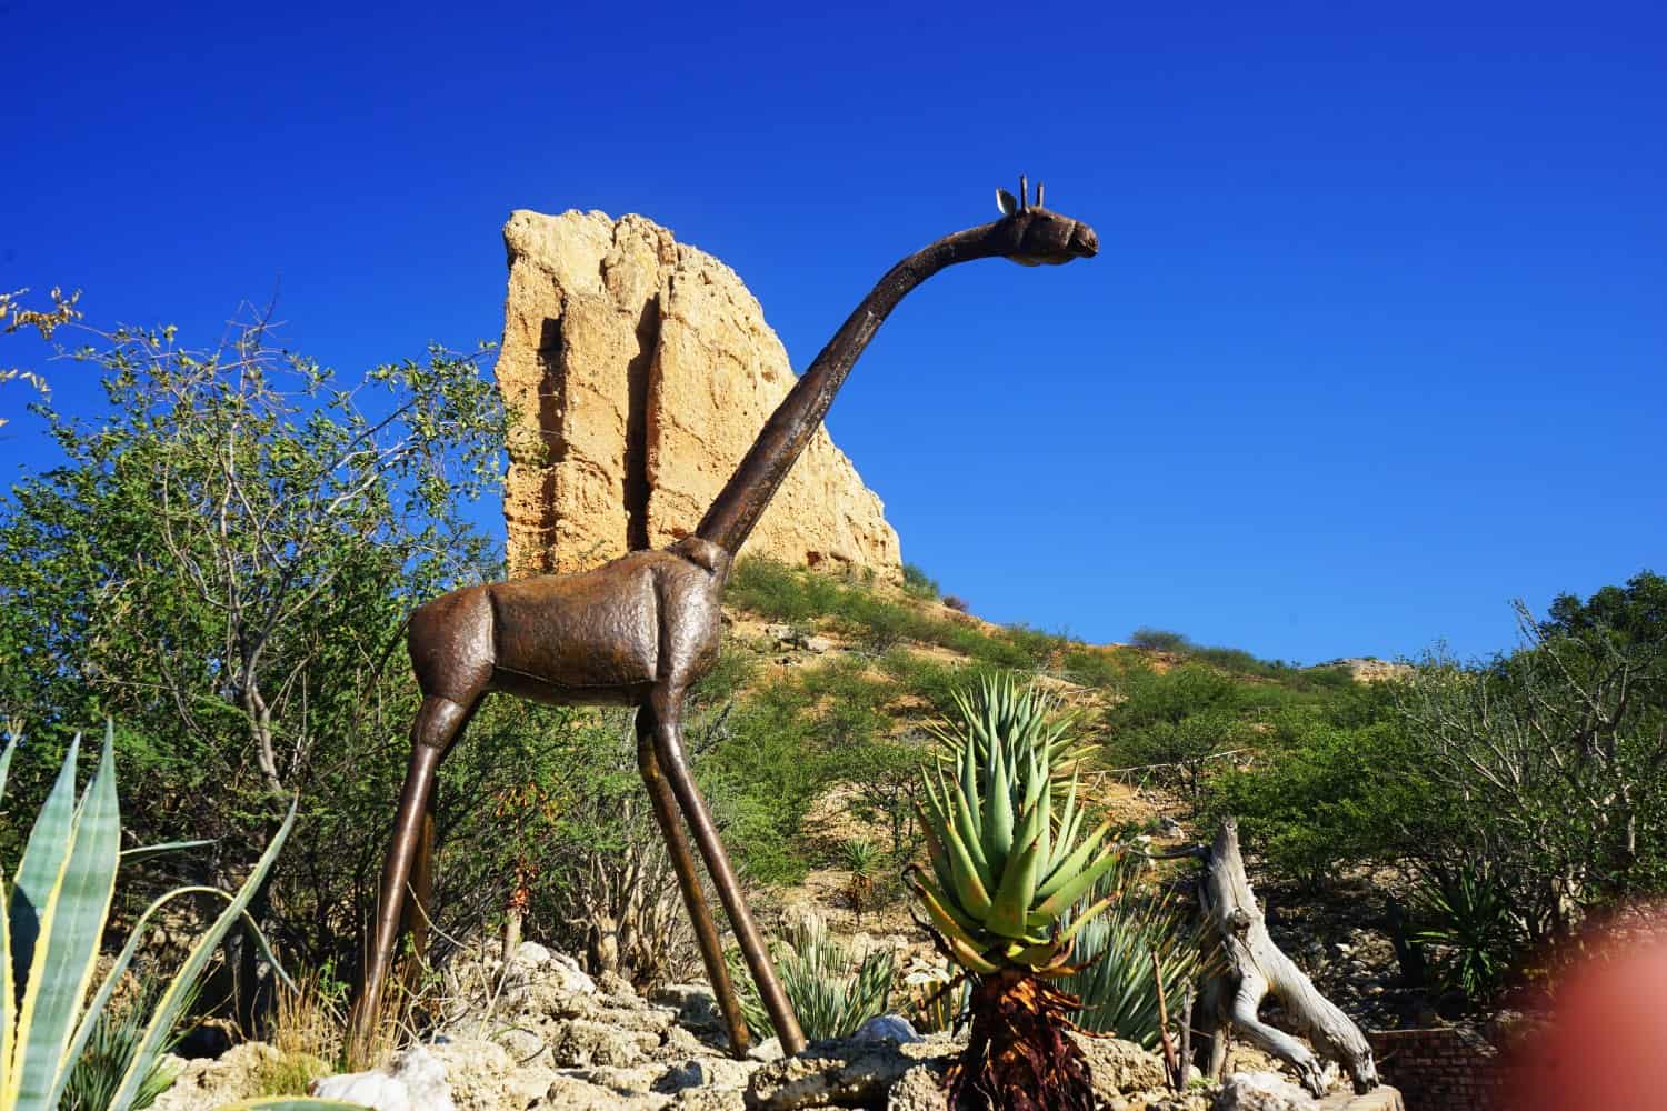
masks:
POLYGON ((1125 854, 1095 884, 1085 903, 1110 898, 1112 908, 1077 934, 1072 964, 1080 971, 1059 986, 1082 999, 1072 1016, 1079 1026, 1152 1049, 1162 1036, 1160 999, 1170 1016, 1180 1014, 1187 989, 1209 969, 1194 908, 1145 888, 1144 868, 1144 859, 1125 854), (1154 971, 1154 956, 1162 976, 1154 971))

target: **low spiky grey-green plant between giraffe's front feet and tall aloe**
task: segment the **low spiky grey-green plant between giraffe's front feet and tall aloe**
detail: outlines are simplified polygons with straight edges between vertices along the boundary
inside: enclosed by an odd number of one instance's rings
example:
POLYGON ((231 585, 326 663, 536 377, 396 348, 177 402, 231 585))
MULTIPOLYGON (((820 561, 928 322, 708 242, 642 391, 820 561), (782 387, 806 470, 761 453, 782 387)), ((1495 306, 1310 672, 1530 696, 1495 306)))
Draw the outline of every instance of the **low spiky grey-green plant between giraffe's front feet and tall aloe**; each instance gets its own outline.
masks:
MULTIPOLYGON (((770 944, 782 991, 793 1004, 805 1038, 849 1038, 870 1018, 885 1014, 892 1001, 895 961, 889 949, 874 949, 857 959, 835 941, 820 918, 807 918, 770 944)), ((730 953, 730 978, 740 996, 747 1028, 758 1038, 773 1033, 758 988, 730 953)))

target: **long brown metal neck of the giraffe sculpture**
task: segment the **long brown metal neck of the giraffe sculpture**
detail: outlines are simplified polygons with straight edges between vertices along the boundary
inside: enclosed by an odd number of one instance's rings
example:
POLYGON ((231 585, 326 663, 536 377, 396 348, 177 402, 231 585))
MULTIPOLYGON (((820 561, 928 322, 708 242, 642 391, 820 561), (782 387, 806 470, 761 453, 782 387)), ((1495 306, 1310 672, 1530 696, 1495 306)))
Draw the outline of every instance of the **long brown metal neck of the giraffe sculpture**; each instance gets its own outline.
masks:
POLYGON ((999 220, 945 235, 885 272, 885 277, 869 296, 862 298, 862 303, 810 363, 810 368, 770 413, 763 431, 758 433, 728 485, 700 520, 700 526, 695 530, 697 536, 710 540, 730 555, 740 551, 758 518, 763 516, 763 510, 770 505, 770 498, 787 478, 787 471, 793 468, 817 428, 822 426, 822 418, 834 405, 834 395, 845 383, 850 368, 869 346, 869 340, 874 338, 879 326, 897 308, 897 303, 912 288, 945 267, 1004 253, 1005 240, 1000 235, 1004 225, 1005 222, 999 220))

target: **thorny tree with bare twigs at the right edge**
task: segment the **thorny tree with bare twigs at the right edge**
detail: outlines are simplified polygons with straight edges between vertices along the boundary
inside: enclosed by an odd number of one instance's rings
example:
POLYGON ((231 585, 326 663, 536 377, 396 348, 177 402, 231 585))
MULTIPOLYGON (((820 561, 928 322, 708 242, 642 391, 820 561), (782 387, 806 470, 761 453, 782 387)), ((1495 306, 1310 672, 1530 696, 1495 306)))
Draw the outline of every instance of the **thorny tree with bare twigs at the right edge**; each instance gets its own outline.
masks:
POLYGON ((1519 603, 1517 620, 1524 648, 1482 668, 1432 658, 1399 710, 1449 793, 1442 844, 1505 884, 1539 946, 1667 879, 1667 580, 1559 598, 1547 621, 1519 603))

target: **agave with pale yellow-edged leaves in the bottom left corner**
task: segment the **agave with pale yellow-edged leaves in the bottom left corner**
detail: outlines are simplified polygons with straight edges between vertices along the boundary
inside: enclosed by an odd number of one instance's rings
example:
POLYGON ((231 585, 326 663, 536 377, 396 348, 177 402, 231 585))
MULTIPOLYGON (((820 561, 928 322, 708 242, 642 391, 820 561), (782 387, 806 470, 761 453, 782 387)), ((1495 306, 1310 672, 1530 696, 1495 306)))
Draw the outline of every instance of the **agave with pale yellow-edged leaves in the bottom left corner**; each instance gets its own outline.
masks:
MULTIPOLYGON (((0 798, 17 751, 17 736, 0 753, 0 798)), ((127 1069, 112 1086, 110 1111, 132 1111, 147 1089, 157 1058, 178 1024, 192 988, 227 931, 247 918, 255 888, 272 869, 295 825, 295 806, 237 894, 215 888, 178 888, 153 901, 133 923, 127 946, 88 999, 110 901, 122 861, 122 813, 115 790, 113 731, 87 791, 75 798, 80 736, 70 743, 52 791, 35 818, 23 856, 7 876, 0 868, 0 1111, 55 1111, 117 981, 133 961, 145 924, 167 903, 187 894, 217 894, 227 908, 160 993, 138 1033, 127 1069)), ((262 946, 258 931, 252 931, 262 946)), ((270 953, 267 954, 270 959, 270 953)), ((277 961, 272 961, 277 968, 277 961)))

